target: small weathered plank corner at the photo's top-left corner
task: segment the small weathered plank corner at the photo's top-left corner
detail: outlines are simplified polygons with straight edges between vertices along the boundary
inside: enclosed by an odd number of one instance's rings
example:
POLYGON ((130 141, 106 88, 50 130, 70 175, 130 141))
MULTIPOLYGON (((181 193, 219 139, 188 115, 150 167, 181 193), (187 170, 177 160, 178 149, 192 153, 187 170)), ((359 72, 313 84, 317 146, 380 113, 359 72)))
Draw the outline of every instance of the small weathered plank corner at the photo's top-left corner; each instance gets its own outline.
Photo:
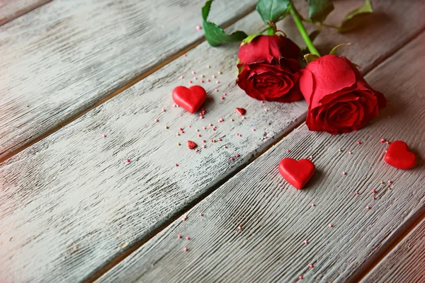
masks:
MULTIPOLYGON (((0 1, 0 25, 12 21, 24 13, 33 11, 52 0, 3 0, 0 1)), ((28 18, 27 18, 28 21, 28 18)))

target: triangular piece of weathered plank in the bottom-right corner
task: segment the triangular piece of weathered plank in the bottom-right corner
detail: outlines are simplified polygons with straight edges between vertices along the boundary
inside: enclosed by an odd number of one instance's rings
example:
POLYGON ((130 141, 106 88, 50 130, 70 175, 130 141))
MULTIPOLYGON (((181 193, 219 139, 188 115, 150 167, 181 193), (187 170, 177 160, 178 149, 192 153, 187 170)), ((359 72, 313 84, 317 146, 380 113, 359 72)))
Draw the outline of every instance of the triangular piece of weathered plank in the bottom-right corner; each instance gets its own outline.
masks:
POLYGON ((425 282, 424 262, 425 219, 362 282, 425 282))

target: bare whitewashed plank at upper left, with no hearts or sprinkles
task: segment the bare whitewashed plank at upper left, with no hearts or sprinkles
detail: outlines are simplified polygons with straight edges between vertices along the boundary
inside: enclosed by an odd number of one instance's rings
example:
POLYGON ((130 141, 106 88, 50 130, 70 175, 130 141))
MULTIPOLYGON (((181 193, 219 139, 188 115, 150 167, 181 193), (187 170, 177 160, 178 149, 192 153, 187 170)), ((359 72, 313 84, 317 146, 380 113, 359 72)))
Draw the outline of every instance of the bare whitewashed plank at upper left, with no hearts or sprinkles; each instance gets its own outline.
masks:
MULTIPOLYGON (((254 0, 215 1, 228 25, 254 0)), ((203 38, 204 1, 52 1, 0 27, 0 161, 203 38)))

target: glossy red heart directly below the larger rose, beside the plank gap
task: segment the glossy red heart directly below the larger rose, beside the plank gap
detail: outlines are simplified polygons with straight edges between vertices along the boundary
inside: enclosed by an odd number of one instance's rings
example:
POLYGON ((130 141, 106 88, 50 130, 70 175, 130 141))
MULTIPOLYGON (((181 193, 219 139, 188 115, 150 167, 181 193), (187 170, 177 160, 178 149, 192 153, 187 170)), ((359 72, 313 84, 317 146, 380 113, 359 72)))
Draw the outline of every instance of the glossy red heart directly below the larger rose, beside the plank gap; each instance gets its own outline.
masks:
POLYGON ((280 175, 298 190, 301 190, 310 181, 314 171, 316 171, 316 167, 308 159, 296 161, 293 158, 283 158, 279 163, 280 175))

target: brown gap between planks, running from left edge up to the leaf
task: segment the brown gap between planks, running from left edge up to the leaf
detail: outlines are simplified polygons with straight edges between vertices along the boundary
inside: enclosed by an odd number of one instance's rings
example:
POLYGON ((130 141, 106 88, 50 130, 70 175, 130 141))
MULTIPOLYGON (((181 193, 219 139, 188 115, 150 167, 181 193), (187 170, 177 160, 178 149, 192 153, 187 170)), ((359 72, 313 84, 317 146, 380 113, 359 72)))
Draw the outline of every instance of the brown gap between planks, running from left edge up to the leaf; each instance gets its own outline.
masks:
MULTIPOLYGON (((50 1, 52 1, 52 0, 46 1, 45 4, 50 2, 50 1)), ((40 6, 38 6, 38 7, 40 7, 40 6)), ((230 25, 233 25, 234 23, 236 23, 240 19, 248 16, 253 11, 255 11, 255 6, 252 6, 251 8, 249 8, 246 11, 246 13, 241 14, 239 17, 229 19, 229 21, 226 21, 225 23, 223 23, 221 25, 221 27, 222 28, 228 28, 230 25)), ((29 11, 27 11, 26 13, 28 13, 28 12, 29 11)), ((22 16, 22 15, 23 15, 23 13, 20 16, 22 16)), ((204 41, 205 41, 205 36, 200 38, 199 40, 196 40, 195 42, 191 43, 190 45, 183 47, 179 52, 176 52, 175 54, 171 55, 168 59, 164 59, 164 60, 160 61, 158 64, 152 65, 152 67, 149 67, 143 74, 135 76, 134 78, 132 78, 127 83, 124 83, 123 86, 119 87, 115 91, 112 91, 108 96, 101 98, 101 100, 98 100, 96 103, 92 103, 88 107, 81 109, 79 112, 76 112, 74 115, 69 116, 67 119, 63 120, 62 122, 58 122, 54 127, 47 129, 45 132, 42 132, 41 134, 39 134, 37 137, 34 137, 32 139, 27 139, 27 141, 23 142, 22 146, 18 146, 16 149, 6 150, 4 153, 0 153, 0 163, 3 162, 3 161, 6 161, 8 158, 11 158, 12 156, 23 151, 24 149, 27 149, 28 147, 32 146, 33 144, 36 144, 38 141, 45 139, 45 137, 50 136, 50 134, 57 132, 59 129, 62 129, 62 127, 65 127, 69 123, 74 122, 79 117, 86 114, 87 112, 90 112, 94 108, 97 108, 98 106, 102 105, 103 103, 106 103, 106 101, 111 100, 111 98, 118 96, 118 94, 127 90, 131 86, 134 86, 136 83, 138 83, 139 81, 142 81, 142 79, 145 79, 147 76, 150 76, 151 74, 158 71, 159 69, 162 69, 164 66, 173 62, 175 59, 183 56, 183 54, 185 54, 186 52, 197 47, 198 45, 200 45, 200 43, 202 43, 204 41)))

